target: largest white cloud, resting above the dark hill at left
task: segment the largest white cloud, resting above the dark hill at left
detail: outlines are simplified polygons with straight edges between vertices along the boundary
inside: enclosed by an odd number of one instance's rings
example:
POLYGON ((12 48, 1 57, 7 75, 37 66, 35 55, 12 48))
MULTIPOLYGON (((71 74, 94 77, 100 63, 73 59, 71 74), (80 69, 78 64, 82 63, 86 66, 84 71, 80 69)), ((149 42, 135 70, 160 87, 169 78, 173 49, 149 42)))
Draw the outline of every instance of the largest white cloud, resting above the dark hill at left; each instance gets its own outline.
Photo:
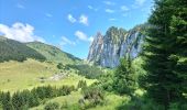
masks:
POLYGON ((16 22, 12 26, 0 24, 0 33, 6 37, 20 42, 45 42, 44 38, 34 35, 34 28, 30 24, 16 22))

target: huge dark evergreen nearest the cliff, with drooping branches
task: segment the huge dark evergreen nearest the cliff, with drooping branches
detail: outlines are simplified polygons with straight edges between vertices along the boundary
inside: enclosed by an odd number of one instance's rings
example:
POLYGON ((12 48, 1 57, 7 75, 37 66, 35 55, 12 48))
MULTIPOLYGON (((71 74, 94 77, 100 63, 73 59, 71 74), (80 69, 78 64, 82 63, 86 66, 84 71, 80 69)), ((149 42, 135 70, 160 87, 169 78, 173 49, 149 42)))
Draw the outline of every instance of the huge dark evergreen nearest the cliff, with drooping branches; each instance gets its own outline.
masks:
MULTIPOLYGON (((151 28, 144 46, 145 64, 143 67, 147 72, 142 80, 145 82, 144 88, 147 90, 147 95, 164 105, 165 109, 168 108, 169 102, 183 98, 184 89, 182 88, 186 85, 185 79, 187 78, 185 75, 187 66, 179 65, 177 56, 179 54, 177 48, 186 45, 184 41, 184 44, 177 42, 178 36, 176 35, 179 31, 185 30, 186 24, 183 25, 184 29, 174 25, 175 14, 180 13, 176 9, 180 7, 186 10, 186 7, 175 4, 178 1, 186 2, 185 0, 155 0, 153 13, 148 20, 151 28), (176 28, 178 31, 174 34, 173 30, 177 30, 176 28)), ((185 33, 184 31, 182 37, 186 37, 185 33)), ((185 54, 184 56, 186 57, 185 54)))

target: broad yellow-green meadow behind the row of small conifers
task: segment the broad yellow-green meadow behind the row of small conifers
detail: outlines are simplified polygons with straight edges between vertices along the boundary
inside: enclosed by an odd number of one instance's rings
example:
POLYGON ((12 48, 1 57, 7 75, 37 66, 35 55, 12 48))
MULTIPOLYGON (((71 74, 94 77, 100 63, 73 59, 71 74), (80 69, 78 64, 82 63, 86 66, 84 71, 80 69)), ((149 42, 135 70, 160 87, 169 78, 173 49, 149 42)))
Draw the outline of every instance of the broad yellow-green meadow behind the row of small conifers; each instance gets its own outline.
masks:
POLYGON ((78 76, 74 69, 59 70, 54 63, 41 63, 34 59, 28 59, 23 63, 0 63, 0 91, 9 90, 13 92, 45 85, 76 86, 79 80, 87 80, 88 84, 95 81, 78 76))

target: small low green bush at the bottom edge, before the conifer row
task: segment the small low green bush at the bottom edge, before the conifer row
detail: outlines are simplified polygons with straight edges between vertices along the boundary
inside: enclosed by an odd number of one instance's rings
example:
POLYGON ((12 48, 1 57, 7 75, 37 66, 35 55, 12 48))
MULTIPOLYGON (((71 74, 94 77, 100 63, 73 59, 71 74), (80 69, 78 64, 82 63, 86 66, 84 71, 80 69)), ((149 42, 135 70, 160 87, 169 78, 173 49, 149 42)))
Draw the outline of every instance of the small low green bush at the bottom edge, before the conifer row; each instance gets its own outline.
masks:
POLYGON ((59 103, 57 103, 57 102, 48 102, 44 107, 44 110, 59 110, 59 103))

